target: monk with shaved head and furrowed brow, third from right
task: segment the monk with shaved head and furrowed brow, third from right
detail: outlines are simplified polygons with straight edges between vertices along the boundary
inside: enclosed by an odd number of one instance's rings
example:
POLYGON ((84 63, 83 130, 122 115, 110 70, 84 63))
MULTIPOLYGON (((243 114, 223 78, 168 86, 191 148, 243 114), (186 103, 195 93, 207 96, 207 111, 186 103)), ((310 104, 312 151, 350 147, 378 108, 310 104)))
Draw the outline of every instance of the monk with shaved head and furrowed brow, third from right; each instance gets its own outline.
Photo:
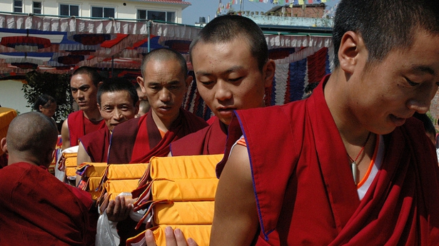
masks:
POLYGON ((181 53, 159 48, 146 54, 137 78, 148 96, 150 111, 113 130, 108 163, 148 163, 166 156, 169 144, 207 126, 206 121, 181 108, 192 76, 181 53))

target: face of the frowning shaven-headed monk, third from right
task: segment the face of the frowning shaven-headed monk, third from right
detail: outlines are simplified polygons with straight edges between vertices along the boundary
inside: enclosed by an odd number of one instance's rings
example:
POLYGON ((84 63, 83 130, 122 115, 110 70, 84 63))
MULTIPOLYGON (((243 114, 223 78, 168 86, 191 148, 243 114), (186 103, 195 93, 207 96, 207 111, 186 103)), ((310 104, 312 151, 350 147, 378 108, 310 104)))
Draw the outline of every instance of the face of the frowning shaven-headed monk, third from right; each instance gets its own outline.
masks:
POLYGON ((178 117, 192 77, 186 78, 180 63, 175 59, 151 59, 143 69, 145 77, 138 77, 138 83, 148 96, 153 117, 160 118, 165 124, 172 123, 178 117))

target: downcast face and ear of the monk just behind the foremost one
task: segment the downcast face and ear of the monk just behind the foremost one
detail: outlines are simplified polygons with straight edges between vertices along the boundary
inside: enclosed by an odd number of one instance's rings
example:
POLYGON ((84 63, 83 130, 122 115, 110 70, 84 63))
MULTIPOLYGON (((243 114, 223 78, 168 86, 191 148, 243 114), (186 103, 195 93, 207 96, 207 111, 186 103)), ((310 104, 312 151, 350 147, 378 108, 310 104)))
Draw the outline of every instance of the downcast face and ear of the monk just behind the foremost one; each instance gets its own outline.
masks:
POLYGON ((228 125, 234 110, 264 105, 264 91, 271 86, 275 65, 270 60, 260 71, 247 39, 199 41, 191 56, 198 91, 220 121, 228 125))

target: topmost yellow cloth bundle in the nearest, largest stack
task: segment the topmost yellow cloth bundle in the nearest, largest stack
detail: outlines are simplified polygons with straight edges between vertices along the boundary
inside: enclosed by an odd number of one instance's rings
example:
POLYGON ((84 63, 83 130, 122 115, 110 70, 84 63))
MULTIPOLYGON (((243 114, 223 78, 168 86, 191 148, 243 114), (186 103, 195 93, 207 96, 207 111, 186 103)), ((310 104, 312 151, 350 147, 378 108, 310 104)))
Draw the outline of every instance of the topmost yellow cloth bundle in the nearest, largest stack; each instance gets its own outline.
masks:
POLYGON ((153 157, 149 160, 152 179, 216 178, 216 164, 223 155, 153 157))

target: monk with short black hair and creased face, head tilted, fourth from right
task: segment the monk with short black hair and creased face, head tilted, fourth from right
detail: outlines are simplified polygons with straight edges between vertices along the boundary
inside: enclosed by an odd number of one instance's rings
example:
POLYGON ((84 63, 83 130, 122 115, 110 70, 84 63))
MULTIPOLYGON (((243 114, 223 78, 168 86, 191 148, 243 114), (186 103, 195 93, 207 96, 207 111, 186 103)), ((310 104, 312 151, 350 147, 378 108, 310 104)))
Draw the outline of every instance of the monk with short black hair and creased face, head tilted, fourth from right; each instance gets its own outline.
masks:
POLYGON ((99 112, 105 127, 79 138, 78 165, 85 162, 106 163, 111 132, 116 125, 134 118, 138 111, 138 96, 131 82, 121 78, 101 84, 97 93, 99 112))

